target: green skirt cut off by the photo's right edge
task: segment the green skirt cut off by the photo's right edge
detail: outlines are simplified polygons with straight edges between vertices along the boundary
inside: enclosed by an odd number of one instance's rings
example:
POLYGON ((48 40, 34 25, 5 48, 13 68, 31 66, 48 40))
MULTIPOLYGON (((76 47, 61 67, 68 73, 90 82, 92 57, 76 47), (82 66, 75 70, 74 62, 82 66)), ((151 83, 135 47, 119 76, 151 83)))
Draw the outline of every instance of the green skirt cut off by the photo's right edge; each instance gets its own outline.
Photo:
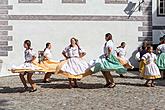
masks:
POLYGON ((161 53, 156 61, 156 64, 159 69, 165 70, 165 53, 161 53))

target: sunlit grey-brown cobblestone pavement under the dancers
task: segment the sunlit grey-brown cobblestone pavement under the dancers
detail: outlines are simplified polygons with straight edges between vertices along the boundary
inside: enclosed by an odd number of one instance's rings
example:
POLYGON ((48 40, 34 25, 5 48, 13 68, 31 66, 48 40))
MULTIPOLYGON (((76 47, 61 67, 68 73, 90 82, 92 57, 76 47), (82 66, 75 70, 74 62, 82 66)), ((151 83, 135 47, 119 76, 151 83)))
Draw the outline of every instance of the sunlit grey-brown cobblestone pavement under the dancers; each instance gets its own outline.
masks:
POLYGON ((79 88, 68 89, 68 80, 52 76, 42 83, 43 75, 34 75, 38 90, 23 92, 18 76, 0 78, 0 110, 165 110, 165 80, 156 87, 144 87, 145 80, 130 72, 125 78, 113 73, 117 86, 103 88, 101 73, 79 81, 79 88))

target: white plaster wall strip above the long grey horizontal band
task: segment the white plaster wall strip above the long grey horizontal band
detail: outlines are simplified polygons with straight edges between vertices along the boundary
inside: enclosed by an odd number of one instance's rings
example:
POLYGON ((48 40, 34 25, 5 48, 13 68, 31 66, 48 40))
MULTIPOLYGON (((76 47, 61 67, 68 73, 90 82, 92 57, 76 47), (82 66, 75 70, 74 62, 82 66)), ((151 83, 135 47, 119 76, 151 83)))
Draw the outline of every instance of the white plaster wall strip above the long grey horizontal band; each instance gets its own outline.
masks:
MULTIPOLYGON (((129 0, 138 3, 138 0, 129 0)), ((105 4, 104 0, 87 0, 86 4, 62 4, 62 0, 43 0, 42 4, 18 3, 18 0, 9 0, 13 15, 125 15, 127 4, 105 4)), ((141 12, 134 12, 141 16, 141 12)))

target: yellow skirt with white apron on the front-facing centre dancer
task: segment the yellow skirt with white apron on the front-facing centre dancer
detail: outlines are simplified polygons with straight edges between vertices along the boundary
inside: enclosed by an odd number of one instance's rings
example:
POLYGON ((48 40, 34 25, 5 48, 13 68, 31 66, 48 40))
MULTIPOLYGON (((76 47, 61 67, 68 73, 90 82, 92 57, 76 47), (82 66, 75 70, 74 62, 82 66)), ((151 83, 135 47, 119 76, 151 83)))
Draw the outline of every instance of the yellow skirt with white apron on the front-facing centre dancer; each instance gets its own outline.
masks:
POLYGON ((81 79, 91 75, 90 65, 82 58, 70 58, 62 61, 56 70, 56 74, 67 78, 81 79))

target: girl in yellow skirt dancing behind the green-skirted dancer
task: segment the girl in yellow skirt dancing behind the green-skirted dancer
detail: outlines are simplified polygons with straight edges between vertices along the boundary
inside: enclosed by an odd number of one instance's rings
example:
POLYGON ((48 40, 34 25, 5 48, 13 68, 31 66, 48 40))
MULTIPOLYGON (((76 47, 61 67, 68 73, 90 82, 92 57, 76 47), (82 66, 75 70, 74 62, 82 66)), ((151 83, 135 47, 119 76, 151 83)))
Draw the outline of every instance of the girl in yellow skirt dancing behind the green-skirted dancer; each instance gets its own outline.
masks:
POLYGON ((125 68, 130 68, 133 69, 134 66, 131 65, 129 60, 125 57, 126 56, 126 50, 125 50, 126 43, 122 42, 119 47, 117 47, 117 59, 120 61, 120 63, 125 67, 125 68))

